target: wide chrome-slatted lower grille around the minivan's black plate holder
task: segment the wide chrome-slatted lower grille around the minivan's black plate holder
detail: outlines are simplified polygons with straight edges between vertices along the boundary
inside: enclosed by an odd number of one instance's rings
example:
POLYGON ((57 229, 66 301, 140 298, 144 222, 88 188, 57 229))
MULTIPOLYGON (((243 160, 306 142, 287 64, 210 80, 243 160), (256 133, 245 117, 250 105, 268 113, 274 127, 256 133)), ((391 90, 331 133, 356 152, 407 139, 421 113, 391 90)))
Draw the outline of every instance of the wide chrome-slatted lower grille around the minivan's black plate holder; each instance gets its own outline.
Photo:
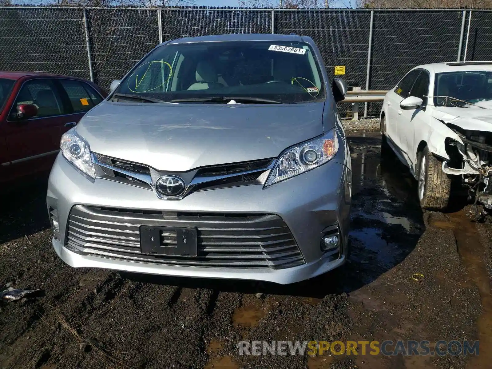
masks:
MULTIPOLYGON (((285 222, 270 214, 171 213, 77 205, 70 212, 67 229, 68 248, 97 256, 168 265, 234 268, 281 269, 305 263, 285 222), (141 225, 196 227, 198 255, 142 254, 141 225)), ((165 236, 166 241, 172 243, 173 234, 165 236)))

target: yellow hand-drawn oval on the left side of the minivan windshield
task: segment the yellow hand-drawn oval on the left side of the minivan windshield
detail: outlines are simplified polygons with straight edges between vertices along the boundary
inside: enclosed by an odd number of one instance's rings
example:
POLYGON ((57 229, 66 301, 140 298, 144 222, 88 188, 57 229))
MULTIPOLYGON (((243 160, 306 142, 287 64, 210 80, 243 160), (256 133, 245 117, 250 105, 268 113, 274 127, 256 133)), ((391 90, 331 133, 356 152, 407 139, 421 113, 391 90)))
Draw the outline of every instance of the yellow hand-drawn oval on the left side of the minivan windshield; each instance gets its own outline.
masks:
POLYGON ((140 65, 128 78, 126 85, 131 92, 142 93, 157 90, 169 81, 173 68, 168 62, 154 60, 140 65), (155 80, 162 82, 155 86, 155 80))

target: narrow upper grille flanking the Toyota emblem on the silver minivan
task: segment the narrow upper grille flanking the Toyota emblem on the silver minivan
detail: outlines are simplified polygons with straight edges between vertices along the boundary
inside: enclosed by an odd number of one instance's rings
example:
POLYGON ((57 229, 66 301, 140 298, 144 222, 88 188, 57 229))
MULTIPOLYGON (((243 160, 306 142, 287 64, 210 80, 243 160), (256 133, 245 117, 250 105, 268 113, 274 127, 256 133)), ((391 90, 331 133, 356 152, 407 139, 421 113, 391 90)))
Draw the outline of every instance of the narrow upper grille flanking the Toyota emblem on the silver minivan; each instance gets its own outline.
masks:
POLYGON ((188 172, 160 172, 144 164, 133 163, 101 154, 92 154, 95 175, 110 181, 121 182, 154 190, 155 181, 163 175, 177 175, 185 179, 184 196, 208 189, 264 184, 275 158, 212 165, 188 172))

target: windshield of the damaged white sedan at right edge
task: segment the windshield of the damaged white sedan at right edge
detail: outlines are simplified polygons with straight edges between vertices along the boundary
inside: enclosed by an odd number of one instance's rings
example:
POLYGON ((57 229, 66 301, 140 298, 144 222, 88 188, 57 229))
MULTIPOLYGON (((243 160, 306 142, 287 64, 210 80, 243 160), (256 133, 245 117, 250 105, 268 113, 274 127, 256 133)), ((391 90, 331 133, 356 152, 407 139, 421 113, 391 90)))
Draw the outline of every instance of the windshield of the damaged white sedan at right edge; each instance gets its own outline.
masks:
POLYGON ((434 105, 492 109, 492 72, 470 70, 437 73, 434 105))

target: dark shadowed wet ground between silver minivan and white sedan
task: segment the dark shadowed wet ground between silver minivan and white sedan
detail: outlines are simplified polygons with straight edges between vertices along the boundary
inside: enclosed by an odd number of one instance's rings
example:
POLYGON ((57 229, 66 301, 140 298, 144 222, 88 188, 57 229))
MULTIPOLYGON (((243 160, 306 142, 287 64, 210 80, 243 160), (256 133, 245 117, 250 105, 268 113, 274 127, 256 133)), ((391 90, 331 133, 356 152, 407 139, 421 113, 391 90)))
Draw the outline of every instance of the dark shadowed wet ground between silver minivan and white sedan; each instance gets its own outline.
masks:
POLYGON ((348 137, 352 159, 352 259, 389 270, 413 249, 424 230, 407 168, 380 156, 380 135, 348 137), (409 238, 404 242, 403 238, 409 238))

